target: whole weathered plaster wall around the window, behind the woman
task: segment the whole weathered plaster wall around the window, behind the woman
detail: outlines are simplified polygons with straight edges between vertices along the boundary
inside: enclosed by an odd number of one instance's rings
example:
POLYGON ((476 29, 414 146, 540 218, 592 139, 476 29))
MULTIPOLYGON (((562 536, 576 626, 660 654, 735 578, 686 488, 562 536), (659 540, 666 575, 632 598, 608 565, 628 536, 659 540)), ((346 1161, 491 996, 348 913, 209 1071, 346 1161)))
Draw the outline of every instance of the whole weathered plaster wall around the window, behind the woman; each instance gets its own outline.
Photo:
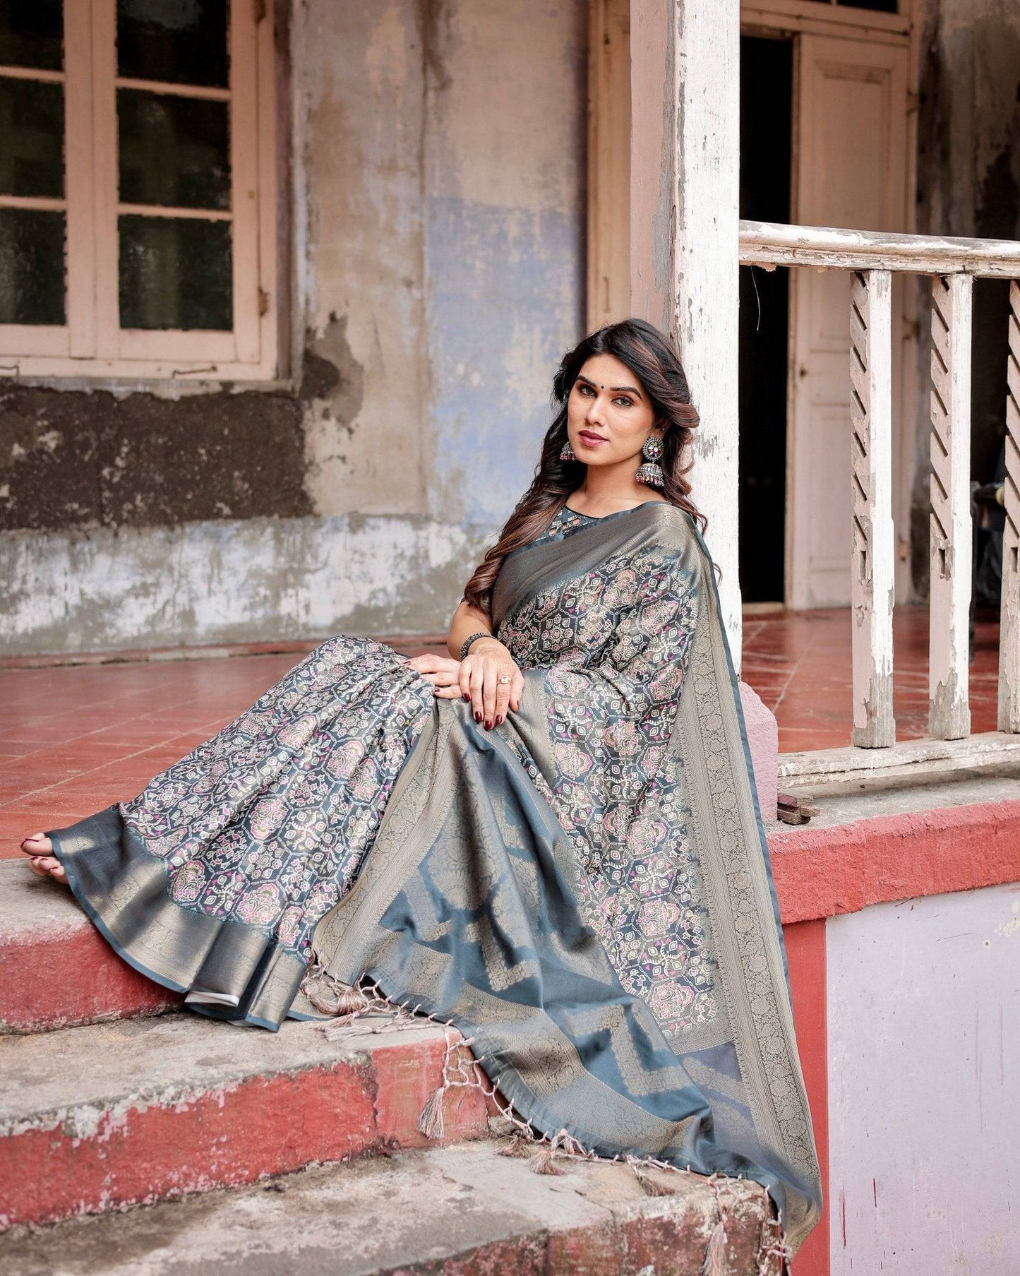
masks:
POLYGON ((0 649, 436 632, 580 334, 584 0, 295 0, 296 375, 0 382, 0 649))

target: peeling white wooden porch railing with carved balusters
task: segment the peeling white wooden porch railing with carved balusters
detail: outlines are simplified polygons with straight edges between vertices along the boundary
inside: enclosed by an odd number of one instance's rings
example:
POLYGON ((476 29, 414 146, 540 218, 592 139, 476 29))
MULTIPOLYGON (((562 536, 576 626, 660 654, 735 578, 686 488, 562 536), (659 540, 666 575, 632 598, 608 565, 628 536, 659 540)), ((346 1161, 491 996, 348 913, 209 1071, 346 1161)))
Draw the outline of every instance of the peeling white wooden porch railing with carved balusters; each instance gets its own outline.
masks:
MULTIPOLYGON (((998 655, 998 731, 1020 732, 1020 242, 889 235, 819 226, 741 222, 742 264, 816 267, 853 273, 850 297, 850 447, 853 496, 853 744, 895 745, 892 717, 892 272, 929 274, 931 596, 928 731, 933 740, 970 735, 969 614, 970 314, 975 277, 1009 278, 1006 530, 998 655)), ((975 738, 975 744, 978 740, 975 738)), ((1020 741, 1001 741, 1009 753, 1020 741)), ((982 755, 996 741, 980 740, 982 755)), ((896 750, 899 752, 899 750, 896 750)), ((938 752, 938 750, 936 750, 938 752)), ((945 750, 964 764, 959 749, 945 750)), ((941 757, 940 753, 940 757, 941 757)), ((808 755, 803 755, 807 758, 808 755)), ((875 755, 872 755, 875 757, 875 755)), ((844 759, 841 769, 872 769, 844 759)), ((875 758, 877 762, 877 758, 875 758)), ((839 768, 836 768, 839 769, 839 768)), ((790 763, 790 777, 812 771, 790 763)), ((813 768, 815 775, 825 771, 813 768)), ((780 772, 783 767, 780 766, 780 772)))

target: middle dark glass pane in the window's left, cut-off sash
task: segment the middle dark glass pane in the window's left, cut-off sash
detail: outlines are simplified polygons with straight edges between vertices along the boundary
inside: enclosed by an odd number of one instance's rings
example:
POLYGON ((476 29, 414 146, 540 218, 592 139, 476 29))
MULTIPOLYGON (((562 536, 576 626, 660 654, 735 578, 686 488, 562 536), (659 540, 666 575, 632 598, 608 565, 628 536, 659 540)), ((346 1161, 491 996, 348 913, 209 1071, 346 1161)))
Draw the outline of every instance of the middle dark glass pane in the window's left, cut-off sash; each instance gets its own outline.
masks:
POLYGON ((64 85, 0 75, 0 194, 64 194, 64 85))

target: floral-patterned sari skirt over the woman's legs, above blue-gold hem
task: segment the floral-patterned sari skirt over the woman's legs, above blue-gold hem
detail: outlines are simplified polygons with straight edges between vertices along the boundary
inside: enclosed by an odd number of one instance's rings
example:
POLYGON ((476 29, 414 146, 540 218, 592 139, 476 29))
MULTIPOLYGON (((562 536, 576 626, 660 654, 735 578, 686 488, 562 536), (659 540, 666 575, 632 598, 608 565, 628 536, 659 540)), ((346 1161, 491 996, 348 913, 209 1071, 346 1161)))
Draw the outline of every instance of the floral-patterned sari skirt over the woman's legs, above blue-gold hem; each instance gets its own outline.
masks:
POLYGON ((185 909, 256 926, 302 961, 357 877, 432 713, 390 647, 342 634, 120 806, 185 909))

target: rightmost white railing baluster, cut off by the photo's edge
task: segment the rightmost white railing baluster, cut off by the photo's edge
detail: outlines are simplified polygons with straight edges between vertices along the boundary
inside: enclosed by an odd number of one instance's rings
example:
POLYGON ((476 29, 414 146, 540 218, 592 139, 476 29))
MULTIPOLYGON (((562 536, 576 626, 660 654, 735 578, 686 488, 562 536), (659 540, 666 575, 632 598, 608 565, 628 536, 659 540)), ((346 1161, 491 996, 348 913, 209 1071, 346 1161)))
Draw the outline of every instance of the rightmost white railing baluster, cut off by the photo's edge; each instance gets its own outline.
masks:
POLYGON ((1006 527, 998 630, 998 730, 1020 731, 1020 282, 1010 285, 1006 396, 1006 527))

